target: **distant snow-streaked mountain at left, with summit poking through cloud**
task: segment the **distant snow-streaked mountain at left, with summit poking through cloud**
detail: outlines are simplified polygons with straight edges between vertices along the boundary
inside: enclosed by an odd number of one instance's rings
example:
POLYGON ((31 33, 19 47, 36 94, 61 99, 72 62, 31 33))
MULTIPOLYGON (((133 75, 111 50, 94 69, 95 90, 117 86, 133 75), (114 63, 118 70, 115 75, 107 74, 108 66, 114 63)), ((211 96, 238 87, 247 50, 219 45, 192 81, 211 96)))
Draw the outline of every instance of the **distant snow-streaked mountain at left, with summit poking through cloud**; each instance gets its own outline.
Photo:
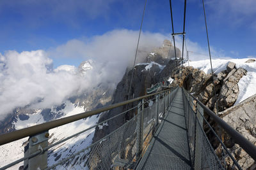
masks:
MULTIPOLYGON (((84 78, 84 74, 87 71, 93 69, 92 61, 84 61, 78 68, 72 66, 61 66, 55 71, 70 71, 78 74, 81 78, 84 78)), ((77 113, 83 113, 84 111, 93 110, 106 106, 110 103, 113 95, 113 87, 108 83, 99 83, 97 86, 91 89, 84 90, 78 96, 69 97, 66 101, 58 106, 51 106, 51 108, 33 109, 29 105, 24 108, 16 108, 13 113, 9 114, 0 124, 0 134, 6 132, 12 132, 17 129, 23 129, 36 124, 42 124, 58 118, 68 117, 77 113)), ((67 136, 71 136, 74 132, 82 131, 86 127, 90 127, 92 124, 96 124, 99 117, 93 116, 86 118, 85 120, 79 120, 76 123, 63 125, 61 127, 51 129, 49 142, 58 141, 67 136)), ((77 148, 81 145, 88 146, 92 142, 93 131, 88 131, 77 136, 72 141, 63 143, 61 147, 54 147, 49 150, 49 165, 54 164, 56 161, 63 159, 65 155, 76 152, 77 148), (88 137, 88 138, 86 138, 88 137), (81 144, 82 141, 82 144, 81 144), (69 143, 72 142, 74 147, 68 148, 69 143)), ((17 160, 24 155, 24 144, 28 138, 20 139, 13 143, 0 146, 0 165, 6 165, 8 162, 17 160)), ((22 166, 22 162, 12 169, 18 169, 22 166)))

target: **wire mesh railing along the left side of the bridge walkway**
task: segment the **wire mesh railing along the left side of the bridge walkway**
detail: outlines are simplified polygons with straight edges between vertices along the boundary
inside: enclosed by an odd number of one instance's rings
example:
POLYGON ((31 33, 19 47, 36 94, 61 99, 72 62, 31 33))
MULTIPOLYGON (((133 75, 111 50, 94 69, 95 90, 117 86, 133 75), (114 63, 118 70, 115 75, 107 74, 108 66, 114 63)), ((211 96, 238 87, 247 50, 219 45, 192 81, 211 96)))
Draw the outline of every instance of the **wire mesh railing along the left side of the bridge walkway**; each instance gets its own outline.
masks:
MULTIPOLYGON (((115 169, 119 167, 129 169, 135 167, 152 139, 157 125, 161 122, 161 117, 163 117, 170 102, 173 100, 176 90, 164 90, 163 92, 157 92, 146 97, 132 99, 130 100, 132 102, 140 100, 141 102, 127 111, 118 113, 114 117, 92 125, 83 131, 76 132, 76 134, 62 138, 59 141, 51 140, 50 142, 48 140, 51 135, 49 131, 31 135, 27 142, 28 145, 25 147, 24 157, 0 169, 7 169, 20 162, 24 162, 23 169, 36 169, 38 167, 40 169, 115 169), (109 134, 106 134, 97 141, 86 141, 83 139, 81 140, 81 145, 77 145, 74 152, 68 153, 68 150, 73 148, 70 145, 72 140, 88 131, 91 131, 90 135, 93 135, 96 127, 102 128, 104 124, 108 124, 109 120, 124 117, 128 112, 133 112, 134 117, 127 120, 124 125, 121 125, 113 132, 109 132, 109 134), (65 146, 66 148, 63 148, 63 143, 67 141, 71 142, 68 143, 68 147, 65 146), (87 143, 87 145, 84 143, 87 143), (62 156, 61 153, 58 153, 60 155, 54 154, 56 159, 52 161, 52 157, 51 159, 49 158, 50 153, 53 154, 60 150, 61 147, 62 150, 65 149, 67 152, 62 153, 62 156)), ((124 104, 126 103, 119 104, 118 106, 124 106, 124 104)), ((116 105, 116 107, 118 106, 116 105)), ((97 113, 98 116, 103 111, 108 110, 100 111, 97 113)))

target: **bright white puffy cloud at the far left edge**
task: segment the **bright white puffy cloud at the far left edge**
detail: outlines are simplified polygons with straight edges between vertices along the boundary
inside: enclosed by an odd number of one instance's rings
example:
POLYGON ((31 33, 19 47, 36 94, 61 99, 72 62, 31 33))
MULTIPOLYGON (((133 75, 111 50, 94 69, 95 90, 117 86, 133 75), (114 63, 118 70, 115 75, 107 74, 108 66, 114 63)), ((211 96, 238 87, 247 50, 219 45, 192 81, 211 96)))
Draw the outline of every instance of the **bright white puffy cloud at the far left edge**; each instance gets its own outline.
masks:
POLYGON ((71 72, 51 71, 52 60, 42 50, 22 53, 9 51, 1 58, 1 118, 14 108, 28 104, 35 108, 60 104, 70 94, 76 94, 81 83, 84 83, 71 72), (40 104, 33 104, 41 99, 40 104))

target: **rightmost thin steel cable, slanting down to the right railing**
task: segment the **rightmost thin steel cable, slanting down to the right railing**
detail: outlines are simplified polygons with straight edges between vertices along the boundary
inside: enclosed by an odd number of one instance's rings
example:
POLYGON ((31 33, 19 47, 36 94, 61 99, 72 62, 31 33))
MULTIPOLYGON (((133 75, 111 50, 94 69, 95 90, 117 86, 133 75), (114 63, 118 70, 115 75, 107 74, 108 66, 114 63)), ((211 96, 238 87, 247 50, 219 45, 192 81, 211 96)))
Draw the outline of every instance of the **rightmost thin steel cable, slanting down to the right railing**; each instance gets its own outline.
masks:
MULTIPOLYGON (((212 57, 211 57, 208 28, 207 28, 207 21, 206 21, 206 15, 205 15, 204 0, 202 0, 202 3, 203 3, 203 9, 204 9, 204 21, 205 21, 205 29, 206 29, 206 36, 207 36, 207 44, 208 44, 209 57, 210 57, 210 62, 211 62, 211 73, 212 73, 212 83, 213 83, 213 90, 214 90, 214 98, 215 98, 215 103, 216 103, 216 113, 217 113, 218 116, 220 116, 219 112, 218 112, 218 101, 217 101, 217 97, 216 97, 216 88, 215 88, 214 74, 213 74, 213 69, 212 69, 212 57)), ((221 134, 220 125, 218 125, 218 128, 219 128, 220 138, 221 138, 221 141, 222 141, 222 134, 221 134)), ((221 156, 222 156, 222 159, 223 159, 223 156, 225 157, 225 153, 223 152, 223 146, 221 148, 221 156)), ((223 161, 225 162, 225 160, 223 160, 223 161)))

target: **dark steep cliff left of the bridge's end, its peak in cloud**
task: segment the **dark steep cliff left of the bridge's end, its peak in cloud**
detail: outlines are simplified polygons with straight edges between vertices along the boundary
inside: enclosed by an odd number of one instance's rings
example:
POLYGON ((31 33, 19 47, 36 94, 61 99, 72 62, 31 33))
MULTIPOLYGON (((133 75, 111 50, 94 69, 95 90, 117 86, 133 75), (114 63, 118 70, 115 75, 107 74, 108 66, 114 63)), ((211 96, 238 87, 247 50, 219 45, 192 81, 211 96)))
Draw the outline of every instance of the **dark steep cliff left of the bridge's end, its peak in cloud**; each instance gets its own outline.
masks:
MULTIPOLYGON (((145 63, 137 64, 133 68, 132 84, 132 69, 127 68, 122 80, 116 86, 112 103, 119 103, 128 99, 130 84, 131 92, 129 94, 129 99, 132 99, 146 95, 146 89, 150 88, 152 85, 158 83, 159 81, 163 81, 166 76, 170 76, 170 73, 172 73, 173 68, 176 66, 175 61, 170 60, 173 55, 168 57, 170 47, 172 47, 170 41, 164 40, 163 47, 155 49, 154 53, 148 53, 148 56, 145 57, 144 60, 145 63)), ((172 52, 172 49, 170 52, 172 52)), ((99 122, 111 118, 118 113, 122 113, 123 111, 127 110, 127 108, 132 108, 137 104, 138 103, 128 104, 128 106, 115 108, 108 113, 104 113, 100 116, 99 122)), ((116 128, 120 127, 120 125, 123 125, 126 120, 129 120, 132 117, 133 112, 127 113, 124 116, 117 117, 113 120, 109 120, 109 126, 103 127, 102 129, 96 128, 93 141, 97 141, 103 136, 106 136, 106 134, 114 131, 116 128)))

